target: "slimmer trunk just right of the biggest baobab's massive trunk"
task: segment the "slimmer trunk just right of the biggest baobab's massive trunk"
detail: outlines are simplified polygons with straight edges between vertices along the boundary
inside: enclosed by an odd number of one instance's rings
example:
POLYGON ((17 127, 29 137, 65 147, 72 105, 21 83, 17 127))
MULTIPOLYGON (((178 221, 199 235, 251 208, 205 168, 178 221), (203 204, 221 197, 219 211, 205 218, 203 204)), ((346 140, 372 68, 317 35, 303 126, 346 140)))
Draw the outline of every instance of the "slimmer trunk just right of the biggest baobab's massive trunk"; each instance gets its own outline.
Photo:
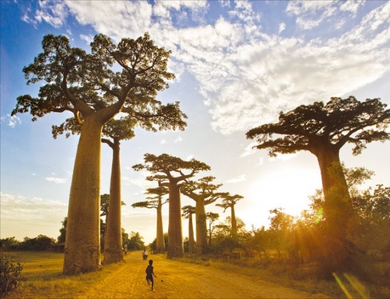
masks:
POLYGON ((118 140, 114 140, 110 201, 108 202, 108 217, 106 222, 106 235, 104 238, 104 264, 113 264, 123 261, 120 152, 120 143, 118 140))

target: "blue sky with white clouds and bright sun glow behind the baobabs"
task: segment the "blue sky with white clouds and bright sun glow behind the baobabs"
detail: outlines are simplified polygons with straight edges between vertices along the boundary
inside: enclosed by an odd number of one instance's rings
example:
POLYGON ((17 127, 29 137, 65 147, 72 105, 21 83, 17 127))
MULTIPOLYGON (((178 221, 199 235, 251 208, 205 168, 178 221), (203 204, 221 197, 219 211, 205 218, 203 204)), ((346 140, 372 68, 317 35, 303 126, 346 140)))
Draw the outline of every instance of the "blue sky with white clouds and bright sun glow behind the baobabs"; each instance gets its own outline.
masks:
MULTIPOLYGON (((299 215, 321 188, 318 162, 299 152, 268 156, 253 150, 245 132, 275 123, 280 111, 330 97, 381 98, 390 104, 389 1, 0 1, 1 6, 1 215, 0 239, 47 235, 57 239, 67 216, 69 188, 79 137, 52 138, 51 126, 68 115, 52 113, 36 122, 28 113, 11 117, 16 98, 36 96, 22 69, 41 51, 43 36, 67 35, 89 51, 94 35, 114 42, 145 32, 172 51, 176 79, 157 98, 180 102, 188 115, 184 131, 145 132, 121 142, 122 227, 155 238, 155 209, 145 201, 146 171, 132 166, 143 155, 167 153, 208 164, 194 179, 215 176, 219 191, 239 194, 236 216, 247 230, 269 225, 269 210, 299 215)), ((375 175, 367 186, 390 185, 390 142, 374 142, 359 156, 345 145, 346 167, 375 175)), ((112 151, 102 145, 101 194, 109 193, 112 151)), ((182 196, 182 205, 195 202, 182 196)), ((230 215, 215 204, 206 212, 230 215)), ((168 207, 163 208, 167 232, 168 207)), ((183 219, 183 235, 188 236, 183 219)))

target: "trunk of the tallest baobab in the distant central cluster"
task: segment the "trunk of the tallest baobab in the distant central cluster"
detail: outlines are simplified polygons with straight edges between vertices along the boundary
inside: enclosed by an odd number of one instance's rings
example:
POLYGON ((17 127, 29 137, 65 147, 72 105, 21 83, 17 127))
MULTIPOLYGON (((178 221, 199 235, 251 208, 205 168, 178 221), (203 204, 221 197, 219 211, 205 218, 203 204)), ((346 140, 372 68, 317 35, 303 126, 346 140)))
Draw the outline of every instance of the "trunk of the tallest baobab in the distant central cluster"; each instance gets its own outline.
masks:
POLYGON ((182 204, 180 188, 176 182, 169 182, 168 259, 183 257, 182 204))

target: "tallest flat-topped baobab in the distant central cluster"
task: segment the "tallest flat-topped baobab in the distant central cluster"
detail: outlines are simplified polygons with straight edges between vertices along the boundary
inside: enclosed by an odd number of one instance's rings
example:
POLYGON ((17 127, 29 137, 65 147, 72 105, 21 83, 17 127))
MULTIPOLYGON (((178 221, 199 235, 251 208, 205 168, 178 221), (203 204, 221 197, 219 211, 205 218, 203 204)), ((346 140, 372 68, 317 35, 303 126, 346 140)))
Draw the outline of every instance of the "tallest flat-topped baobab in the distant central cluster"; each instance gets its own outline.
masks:
POLYGON ((133 169, 140 171, 146 169, 155 176, 148 176, 149 181, 160 181, 160 186, 169 188, 169 223, 168 223, 168 252, 169 259, 182 257, 183 232, 182 232, 182 205, 180 199, 179 183, 191 178, 199 171, 210 170, 210 167, 204 162, 196 159, 184 161, 178 157, 172 157, 169 154, 144 155, 145 164, 137 164, 133 169), (176 175, 176 176, 175 176, 176 175))

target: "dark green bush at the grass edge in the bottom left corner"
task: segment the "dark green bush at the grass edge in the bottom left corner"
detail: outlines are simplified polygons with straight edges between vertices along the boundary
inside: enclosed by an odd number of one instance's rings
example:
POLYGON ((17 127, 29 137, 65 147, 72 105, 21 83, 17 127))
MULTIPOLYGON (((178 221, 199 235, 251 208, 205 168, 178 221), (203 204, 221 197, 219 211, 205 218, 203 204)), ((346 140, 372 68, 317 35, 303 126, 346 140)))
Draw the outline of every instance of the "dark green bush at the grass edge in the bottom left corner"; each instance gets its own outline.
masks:
POLYGON ((18 286, 22 270, 21 263, 12 264, 9 257, 0 254, 0 297, 18 286))

